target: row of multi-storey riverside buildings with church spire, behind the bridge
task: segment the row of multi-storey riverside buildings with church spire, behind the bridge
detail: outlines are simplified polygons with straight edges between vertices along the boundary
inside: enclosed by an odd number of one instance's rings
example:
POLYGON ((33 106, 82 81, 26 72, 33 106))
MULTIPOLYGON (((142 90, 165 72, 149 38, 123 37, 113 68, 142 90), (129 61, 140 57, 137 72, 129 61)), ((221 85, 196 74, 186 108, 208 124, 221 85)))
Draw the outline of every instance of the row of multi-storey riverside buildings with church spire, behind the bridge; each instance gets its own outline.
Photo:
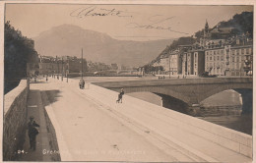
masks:
POLYGON ((170 76, 201 76, 205 73, 217 76, 252 74, 252 39, 246 34, 227 37, 227 33, 232 30, 231 27, 229 30, 217 28, 210 31, 206 23, 204 36, 199 42, 169 50, 160 57, 160 60, 153 63, 153 66, 161 66, 163 74, 170 76), (218 30, 222 31, 219 35, 218 30), (215 35, 215 39, 212 34, 215 35))

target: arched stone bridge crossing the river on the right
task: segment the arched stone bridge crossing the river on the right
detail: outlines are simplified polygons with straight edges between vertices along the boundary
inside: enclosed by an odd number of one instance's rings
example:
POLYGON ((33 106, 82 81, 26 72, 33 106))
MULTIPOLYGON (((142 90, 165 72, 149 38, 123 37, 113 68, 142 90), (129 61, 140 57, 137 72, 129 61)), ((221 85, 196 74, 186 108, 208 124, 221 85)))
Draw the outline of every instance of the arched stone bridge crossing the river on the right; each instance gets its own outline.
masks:
POLYGON ((95 82, 96 85, 125 93, 150 91, 162 97, 162 105, 178 103, 180 109, 189 111, 192 115, 197 113, 199 104, 204 99, 233 89, 241 94, 243 112, 252 111, 252 78, 214 78, 214 79, 172 79, 152 81, 106 81, 95 82), (246 108, 246 109, 245 109, 246 108))

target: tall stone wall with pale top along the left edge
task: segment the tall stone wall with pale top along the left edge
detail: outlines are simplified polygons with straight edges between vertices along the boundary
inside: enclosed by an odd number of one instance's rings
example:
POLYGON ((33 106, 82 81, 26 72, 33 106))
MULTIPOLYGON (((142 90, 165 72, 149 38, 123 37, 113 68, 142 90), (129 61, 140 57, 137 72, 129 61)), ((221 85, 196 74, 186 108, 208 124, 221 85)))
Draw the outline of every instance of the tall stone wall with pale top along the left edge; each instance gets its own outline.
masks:
POLYGON ((25 141, 27 100, 30 81, 22 80, 12 91, 4 95, 3 160, 15 160, 17 151, 25 141))

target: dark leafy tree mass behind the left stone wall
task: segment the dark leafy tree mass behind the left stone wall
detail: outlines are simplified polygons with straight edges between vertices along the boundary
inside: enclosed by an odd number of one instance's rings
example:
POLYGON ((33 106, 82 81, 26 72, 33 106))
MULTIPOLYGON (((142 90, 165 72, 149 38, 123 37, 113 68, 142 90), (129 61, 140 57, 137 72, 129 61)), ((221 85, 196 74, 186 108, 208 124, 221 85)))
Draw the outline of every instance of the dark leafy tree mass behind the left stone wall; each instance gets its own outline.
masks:
POLYGON ((27 77, 27 64, 37 64, 38 55, 33 40, 23 36, 9 21, 5 23, 4 36, 4 92, 7 93, 27 77))

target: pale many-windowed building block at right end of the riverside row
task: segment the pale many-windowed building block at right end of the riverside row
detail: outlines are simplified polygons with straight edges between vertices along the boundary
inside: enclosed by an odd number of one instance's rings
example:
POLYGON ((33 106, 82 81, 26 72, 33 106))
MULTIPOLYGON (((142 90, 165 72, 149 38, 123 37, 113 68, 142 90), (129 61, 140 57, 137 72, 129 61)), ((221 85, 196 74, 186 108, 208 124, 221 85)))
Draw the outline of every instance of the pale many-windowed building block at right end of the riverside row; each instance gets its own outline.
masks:
POLYGON ((252 71, 252 45, 206 49, 205 56, 205 70, 210 75, 246 76, 252 71))

